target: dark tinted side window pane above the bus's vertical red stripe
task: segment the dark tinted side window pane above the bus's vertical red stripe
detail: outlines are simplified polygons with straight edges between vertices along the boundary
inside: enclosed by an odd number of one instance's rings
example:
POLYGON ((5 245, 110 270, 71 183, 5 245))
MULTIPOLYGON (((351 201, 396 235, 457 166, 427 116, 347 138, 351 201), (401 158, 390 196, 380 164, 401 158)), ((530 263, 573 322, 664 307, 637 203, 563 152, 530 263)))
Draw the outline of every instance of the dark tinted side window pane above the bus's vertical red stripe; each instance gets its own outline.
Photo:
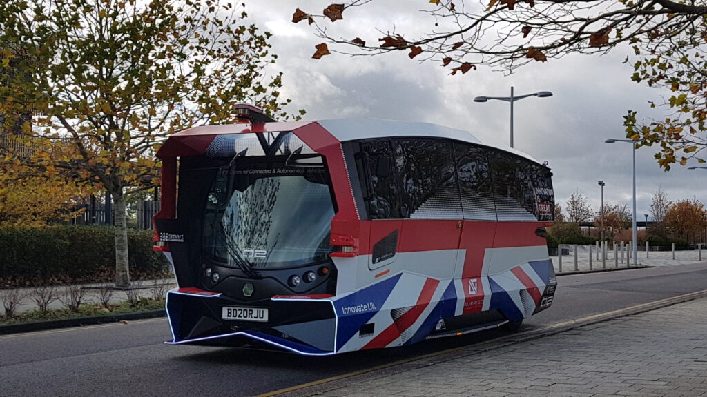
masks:
POLYGON ((488 148, 455 144, 464 219, 496 220, 488 148))

